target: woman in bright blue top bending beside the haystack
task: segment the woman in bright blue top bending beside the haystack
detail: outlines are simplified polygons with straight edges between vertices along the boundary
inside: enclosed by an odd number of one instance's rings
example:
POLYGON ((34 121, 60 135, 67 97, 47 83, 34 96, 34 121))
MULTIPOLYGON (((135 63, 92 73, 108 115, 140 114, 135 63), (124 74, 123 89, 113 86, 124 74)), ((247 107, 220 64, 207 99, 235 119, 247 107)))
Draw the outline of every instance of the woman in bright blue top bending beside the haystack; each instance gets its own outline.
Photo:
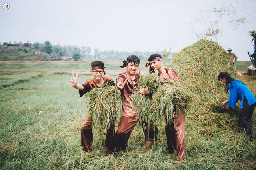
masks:
POLYGON ((230 77, 228 72, 221 72, 218 76, 218 80, 227 84, 225 88, 226 92, 229 90, 229 99, 221 103, 222 107, 226 102, 228 102, 226 110, 229 110, 230 107, 234 109, 238 100, 241 100, 242 102, 240 109, 242 111, 238 119, 238 125, 242 130, 246 130, 250 138, 255 139, 256 137, 253 134, 252 126, 250 123, 254 107, 256 106, 256 98, 243 82, 230 77))

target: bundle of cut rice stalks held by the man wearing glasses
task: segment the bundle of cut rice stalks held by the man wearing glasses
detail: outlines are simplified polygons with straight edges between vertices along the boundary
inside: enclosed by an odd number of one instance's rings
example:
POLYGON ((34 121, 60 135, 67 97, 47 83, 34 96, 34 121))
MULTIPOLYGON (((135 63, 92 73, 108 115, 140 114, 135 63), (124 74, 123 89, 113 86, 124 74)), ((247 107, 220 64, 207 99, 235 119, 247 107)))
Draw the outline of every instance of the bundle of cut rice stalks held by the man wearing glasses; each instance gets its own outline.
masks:
POLYGON ((104 85, 93 88, 85 97, 88 112, 92 116, 92 129, 102 134, 107 126, 115 123, 116 115, 121 113, 120 92, 115 86, 104 85))

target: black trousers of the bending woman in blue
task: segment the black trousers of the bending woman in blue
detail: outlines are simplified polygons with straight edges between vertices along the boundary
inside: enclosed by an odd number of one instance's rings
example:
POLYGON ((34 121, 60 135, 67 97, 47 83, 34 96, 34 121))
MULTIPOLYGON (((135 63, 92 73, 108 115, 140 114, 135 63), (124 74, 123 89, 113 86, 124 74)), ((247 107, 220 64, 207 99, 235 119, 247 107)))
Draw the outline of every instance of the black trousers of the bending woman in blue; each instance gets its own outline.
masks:
POLYGON ((250 138, 255 138, 252 131, 252 126, 251 126, 252 113, 255 106, 256 106, 256 103, 249 105, 248 100, 244 96, 244 105, 238 120, 238 125, 242 130, 244 129, 246 130, 250 138))

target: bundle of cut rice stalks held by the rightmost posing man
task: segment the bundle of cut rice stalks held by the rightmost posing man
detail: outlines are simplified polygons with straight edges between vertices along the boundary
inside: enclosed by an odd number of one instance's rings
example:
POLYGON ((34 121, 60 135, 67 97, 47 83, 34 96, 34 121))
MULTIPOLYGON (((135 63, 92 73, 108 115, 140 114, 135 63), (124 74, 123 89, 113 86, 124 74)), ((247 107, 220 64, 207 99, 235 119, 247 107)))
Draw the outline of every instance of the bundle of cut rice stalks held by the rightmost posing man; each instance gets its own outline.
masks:
POLYGON ((193 92, 174 80, 168 80, 152 97, 150 123, 156 126, 165 120, 172 122, 174 115, 184 111, 192 100, 196 100, 193 92))

